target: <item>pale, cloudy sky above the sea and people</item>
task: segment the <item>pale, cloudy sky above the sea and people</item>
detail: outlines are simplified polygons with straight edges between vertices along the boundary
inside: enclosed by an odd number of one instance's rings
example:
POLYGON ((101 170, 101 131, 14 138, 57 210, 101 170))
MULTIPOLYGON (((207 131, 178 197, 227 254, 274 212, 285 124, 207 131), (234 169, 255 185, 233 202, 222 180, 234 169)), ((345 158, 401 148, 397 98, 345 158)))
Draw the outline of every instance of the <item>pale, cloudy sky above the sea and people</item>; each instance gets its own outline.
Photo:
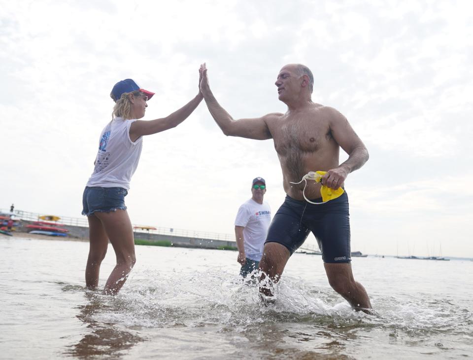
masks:
MULTIPOLYGON (((144 119, 162 118, 197 95, 206 62, 216 99, 237 119, 285 112, 274 81, 302 63, 312 101, 344 114, 370 153, 345 182, 352 251, 473 257, 471 1, 0 8, 0 209, 81 216, 119 80, 156 92, 144 119)), ((232 234, 257 176, 275 214, 285 193, 272 140, 226 137, 202 103, 143 139, 126 204, 134 224, 232 234)))

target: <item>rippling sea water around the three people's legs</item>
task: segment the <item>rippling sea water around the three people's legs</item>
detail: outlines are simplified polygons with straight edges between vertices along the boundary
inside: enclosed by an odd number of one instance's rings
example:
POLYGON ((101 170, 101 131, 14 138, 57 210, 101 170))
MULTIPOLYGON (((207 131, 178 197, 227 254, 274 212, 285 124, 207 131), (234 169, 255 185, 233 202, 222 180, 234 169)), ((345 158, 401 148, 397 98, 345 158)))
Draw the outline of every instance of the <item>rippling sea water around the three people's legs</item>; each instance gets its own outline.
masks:
MULTIPOLYGON (((236 252, 137 246, 117 296, 84 288, 87 242, 0 238, 0 359, 464 359, 473 261, 354 258, 377 315, 294 254, 274 305, 242 283, 236 252)), ((110 247, 100 285, 115 265, 110 247)))

